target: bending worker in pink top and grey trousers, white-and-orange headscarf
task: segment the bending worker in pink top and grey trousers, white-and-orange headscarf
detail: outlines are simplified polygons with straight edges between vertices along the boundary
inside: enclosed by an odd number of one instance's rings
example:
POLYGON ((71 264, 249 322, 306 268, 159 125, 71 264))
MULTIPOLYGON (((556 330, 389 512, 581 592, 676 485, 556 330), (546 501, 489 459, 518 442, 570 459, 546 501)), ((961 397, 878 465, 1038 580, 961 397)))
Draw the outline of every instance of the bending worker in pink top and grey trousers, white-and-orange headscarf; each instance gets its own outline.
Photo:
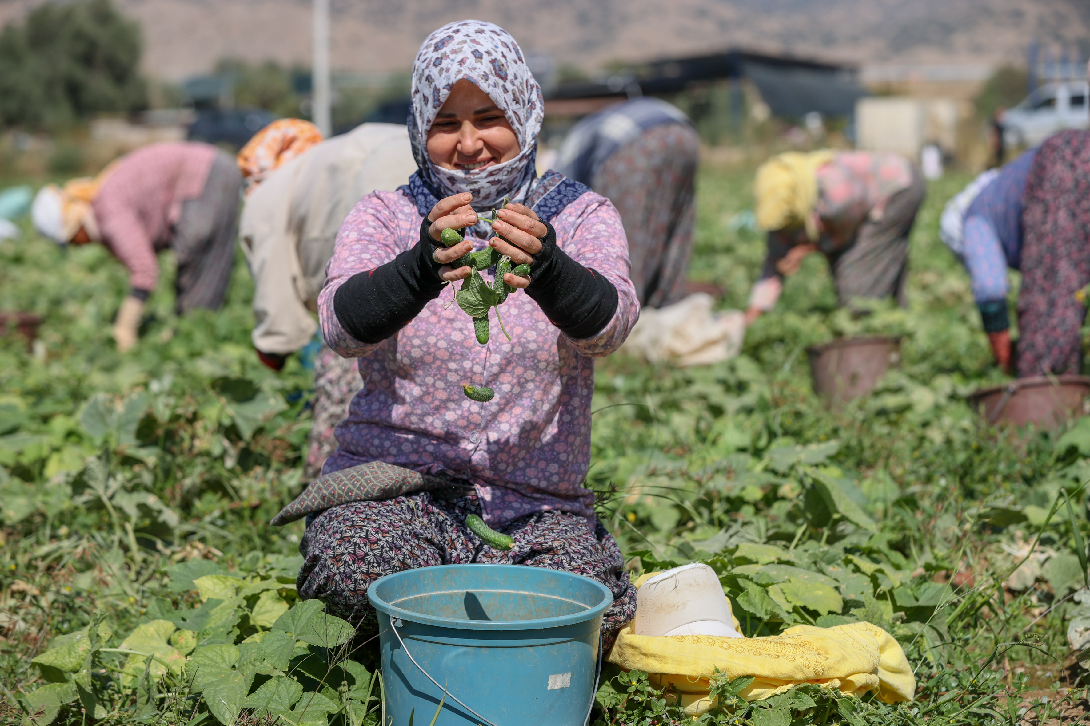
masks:
POLYGON ((219 309, 234 263, 242 177, 215 146, 153 144, 95 179, 47 185, 35 197, 35 227, 60 244, 99 242, 129 269, 130 293, 113 327, 119 350, 136 344, 144 303, 159 279, 159 250, 178 260, 178 313, 219 309))

